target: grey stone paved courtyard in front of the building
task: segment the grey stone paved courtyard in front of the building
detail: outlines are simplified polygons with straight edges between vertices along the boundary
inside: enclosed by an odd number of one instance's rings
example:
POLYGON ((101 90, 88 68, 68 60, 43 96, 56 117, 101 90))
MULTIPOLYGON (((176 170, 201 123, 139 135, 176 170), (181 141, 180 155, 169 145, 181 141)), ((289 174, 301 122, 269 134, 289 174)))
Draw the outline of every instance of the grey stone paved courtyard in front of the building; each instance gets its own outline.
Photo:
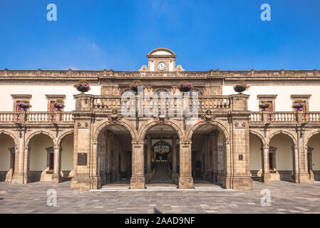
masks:
POLYGON ((0 182, 0 213, 319 213, 320 182, 295 184, 254 181, 252 191, 122 190, 75 192, 70 182, 51 185, 0 182), (57 192, 48 207, 47 190, 57 192), (271 192, 271 206, 261 206, 261 191, 271 192))

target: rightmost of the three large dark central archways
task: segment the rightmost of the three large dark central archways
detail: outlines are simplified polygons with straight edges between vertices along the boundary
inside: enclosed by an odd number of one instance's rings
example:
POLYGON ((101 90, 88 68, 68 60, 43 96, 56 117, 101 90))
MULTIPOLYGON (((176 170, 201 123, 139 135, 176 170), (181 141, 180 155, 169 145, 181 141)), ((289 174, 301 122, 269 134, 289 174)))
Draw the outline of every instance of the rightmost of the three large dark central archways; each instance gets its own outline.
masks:
POLYGON ((192 177, 194 184, 222 184, 226 167, 226 137, 217 125, 203 124, 192 133, 192 177))

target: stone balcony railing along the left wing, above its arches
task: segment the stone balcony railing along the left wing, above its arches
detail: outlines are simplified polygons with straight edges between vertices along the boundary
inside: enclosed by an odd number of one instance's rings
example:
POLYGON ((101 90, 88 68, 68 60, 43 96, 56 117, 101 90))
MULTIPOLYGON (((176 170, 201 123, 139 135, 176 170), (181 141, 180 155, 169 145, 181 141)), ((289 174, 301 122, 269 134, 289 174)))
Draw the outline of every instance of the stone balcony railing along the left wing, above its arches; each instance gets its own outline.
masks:
POLYGON ((71 112, 0 112, 0 123, 73 123, 71 112))

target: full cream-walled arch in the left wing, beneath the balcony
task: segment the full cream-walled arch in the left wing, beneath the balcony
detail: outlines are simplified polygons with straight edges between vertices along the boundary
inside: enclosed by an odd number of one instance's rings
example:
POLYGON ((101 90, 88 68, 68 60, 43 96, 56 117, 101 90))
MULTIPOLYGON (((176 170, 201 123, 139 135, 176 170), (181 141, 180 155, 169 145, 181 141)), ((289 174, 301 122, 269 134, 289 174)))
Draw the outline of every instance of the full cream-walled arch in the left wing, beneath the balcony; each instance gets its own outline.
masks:
POLYGON ((54 168, 54 142, 46 134, 33 135, 28 144, 29 180, 51 181, 54 168))

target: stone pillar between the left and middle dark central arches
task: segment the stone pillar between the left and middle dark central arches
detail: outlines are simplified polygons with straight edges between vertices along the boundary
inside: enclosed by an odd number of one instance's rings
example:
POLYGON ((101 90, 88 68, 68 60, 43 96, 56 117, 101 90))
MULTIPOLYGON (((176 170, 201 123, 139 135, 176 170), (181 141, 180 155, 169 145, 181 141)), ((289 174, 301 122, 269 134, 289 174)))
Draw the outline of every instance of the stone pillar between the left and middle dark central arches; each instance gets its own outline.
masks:
POLYGON ((143 141, 133 141, 132 152, 132 177, 130 189, 145 189, 145 159, 143 152, 143 141))

